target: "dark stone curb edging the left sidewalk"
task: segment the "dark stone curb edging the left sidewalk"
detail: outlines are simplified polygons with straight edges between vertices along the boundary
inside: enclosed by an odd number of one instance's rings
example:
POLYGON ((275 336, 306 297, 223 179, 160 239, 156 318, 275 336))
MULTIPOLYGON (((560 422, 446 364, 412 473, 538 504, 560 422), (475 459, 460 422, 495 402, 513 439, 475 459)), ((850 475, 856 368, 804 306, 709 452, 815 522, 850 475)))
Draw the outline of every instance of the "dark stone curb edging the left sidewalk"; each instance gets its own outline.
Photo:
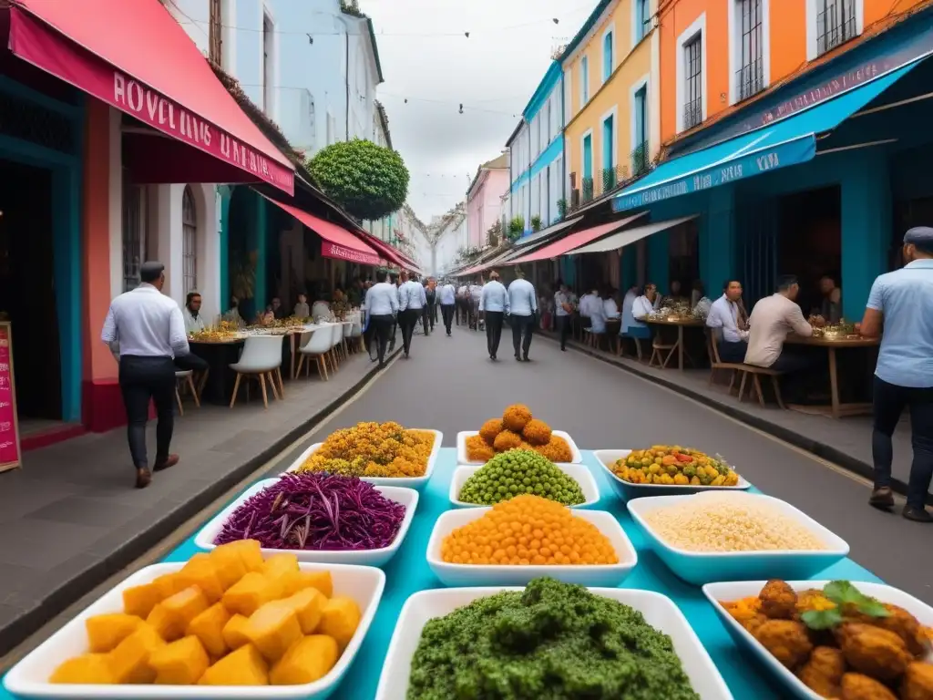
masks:
MULTIPOLYGON (((391 354, 387 354, 386 364, 400 353, 401 347, 391 354)), ((59 588, 35 605, 34 608, 25 610, 20 616, 4 623, 0 627, 0 657, 15 649, 27 637, 38 631, 42 625, 48 623, 84 595, 91 593, 94 588, 121 569, 130 566, 136 559, 157 546, 162 539, 172 535, 178 527, 184 525, 188 520, 216 501, 217 498, 244 481, 261 465, 307 433, 315 423, 323 420, 329 413, 333 413, 349 399, 352 399, 378 373, 378 367, 373 365, 355 385, 351 386, 323 409, 314 413, 307 421, 289 430, 277 441, 272 442, 263 449, 261 453, 232 469, 201 492, 192 495, 190 500, 179 505, 174 511, 166 511, 160 520, 153 521, 145 532, 128 539, 114 553, 99 561, 90 562, 87 568, 74 578, 63 581, 59 588)))

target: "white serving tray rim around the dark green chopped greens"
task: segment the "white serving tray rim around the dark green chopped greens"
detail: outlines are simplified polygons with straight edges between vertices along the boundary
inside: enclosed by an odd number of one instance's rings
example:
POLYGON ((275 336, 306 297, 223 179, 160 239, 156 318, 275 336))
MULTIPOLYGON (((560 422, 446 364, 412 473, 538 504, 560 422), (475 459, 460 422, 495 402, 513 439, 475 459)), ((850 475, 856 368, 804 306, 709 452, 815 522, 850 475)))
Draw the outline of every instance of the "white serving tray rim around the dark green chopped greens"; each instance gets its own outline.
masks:
MULTIPOLYGON (((376 700, 405 700, 408 694, 411 658, 414 656, 425 623, 443 617, 477 598, 522 588, 446 588, 411 595, 398 616, 396 630, 383 664, 376 700)), ((670 598, 652 591, 622 588, 591 588, 591 593, 618 600, 645 616, 645 621, 671 637, 693 690, 703 700, 731 700, 732 693, 716 665, 693 632, 687 618, 670 598)))

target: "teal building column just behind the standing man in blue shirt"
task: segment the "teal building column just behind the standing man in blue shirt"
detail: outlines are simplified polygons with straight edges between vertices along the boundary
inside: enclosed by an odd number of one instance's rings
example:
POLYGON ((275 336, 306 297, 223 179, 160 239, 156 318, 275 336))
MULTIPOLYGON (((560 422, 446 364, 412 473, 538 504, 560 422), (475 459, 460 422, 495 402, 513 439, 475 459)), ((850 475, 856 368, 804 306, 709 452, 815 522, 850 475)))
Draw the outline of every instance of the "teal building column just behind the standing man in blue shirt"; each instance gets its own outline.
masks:
POLYGON ((887 159, 880 153, 856 153, 843 173, 842 315, 858 321, 875 277, 887 271, 891 181, 887 159))

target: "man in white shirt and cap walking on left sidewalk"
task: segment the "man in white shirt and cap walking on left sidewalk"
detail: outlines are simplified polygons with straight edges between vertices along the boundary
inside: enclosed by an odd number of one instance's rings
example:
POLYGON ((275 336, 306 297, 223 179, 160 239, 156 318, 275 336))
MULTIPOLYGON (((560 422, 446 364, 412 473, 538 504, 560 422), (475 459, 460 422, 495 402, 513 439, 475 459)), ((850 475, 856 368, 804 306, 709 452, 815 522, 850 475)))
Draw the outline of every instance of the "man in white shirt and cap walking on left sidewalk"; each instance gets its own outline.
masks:
POLYGON ((165 266, 147 261, 139 271, 141 284, 110 303, 101 340, 119 356, 119 386, 126 407, 127 437, 136 469, 136 488, 152 482, 152 471, 178 464, 169 454, 174 428, 174 357, 188 354, 185 319, 178 304, 161 293, 165 266), (146 457, 149 401, 156 404, 156 461, 146 457))

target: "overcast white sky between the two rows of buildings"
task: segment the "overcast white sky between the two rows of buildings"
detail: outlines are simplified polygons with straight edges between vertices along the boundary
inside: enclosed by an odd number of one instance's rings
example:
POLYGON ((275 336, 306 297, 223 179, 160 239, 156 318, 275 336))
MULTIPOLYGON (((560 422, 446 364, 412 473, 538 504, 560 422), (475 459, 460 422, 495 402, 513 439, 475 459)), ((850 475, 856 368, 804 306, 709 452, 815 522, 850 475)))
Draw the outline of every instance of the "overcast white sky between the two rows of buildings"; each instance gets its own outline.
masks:
POLYGON ((426 223, 463 200, 480 163, 502 152, 551 50, 569 42, 596 0, 359 5, 376 29, 385 77, 377 95, 411 172, 409 203, 426 223))

